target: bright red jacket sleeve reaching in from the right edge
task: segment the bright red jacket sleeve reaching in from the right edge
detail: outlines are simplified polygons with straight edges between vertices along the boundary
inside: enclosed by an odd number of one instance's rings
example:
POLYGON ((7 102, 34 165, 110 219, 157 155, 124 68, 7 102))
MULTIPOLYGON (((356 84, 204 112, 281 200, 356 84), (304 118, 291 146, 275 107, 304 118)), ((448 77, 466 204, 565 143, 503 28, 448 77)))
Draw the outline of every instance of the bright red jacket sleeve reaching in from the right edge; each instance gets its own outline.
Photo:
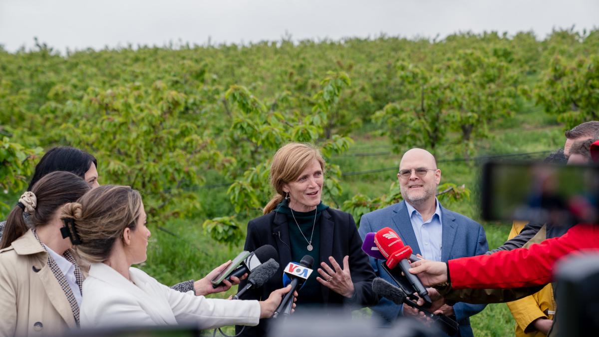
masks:
POLYGON ((560 258, 588 250, 599 250, 599 225, 579 224, 528 249, 457 258, 447 264, 454 289, 532 287, 551 282, 560 258))

